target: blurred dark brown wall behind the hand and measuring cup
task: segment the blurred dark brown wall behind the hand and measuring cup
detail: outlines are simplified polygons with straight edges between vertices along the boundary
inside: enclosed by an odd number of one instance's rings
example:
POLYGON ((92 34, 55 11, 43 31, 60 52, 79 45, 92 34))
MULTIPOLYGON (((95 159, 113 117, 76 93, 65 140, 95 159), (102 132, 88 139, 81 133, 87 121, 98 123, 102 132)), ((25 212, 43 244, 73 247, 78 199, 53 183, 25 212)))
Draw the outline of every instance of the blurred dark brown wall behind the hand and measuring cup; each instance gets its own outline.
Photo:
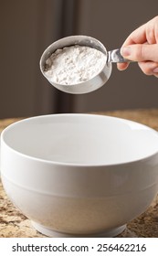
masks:
POLYGON ((0 118, 56 112, 158 107, 158 79, 132 63, 100 90, 70 95, 49 85, 39 70, 45 48, 60 37, 88 35, 110 50, 158 15, 155 0, 1 0, 0 118))

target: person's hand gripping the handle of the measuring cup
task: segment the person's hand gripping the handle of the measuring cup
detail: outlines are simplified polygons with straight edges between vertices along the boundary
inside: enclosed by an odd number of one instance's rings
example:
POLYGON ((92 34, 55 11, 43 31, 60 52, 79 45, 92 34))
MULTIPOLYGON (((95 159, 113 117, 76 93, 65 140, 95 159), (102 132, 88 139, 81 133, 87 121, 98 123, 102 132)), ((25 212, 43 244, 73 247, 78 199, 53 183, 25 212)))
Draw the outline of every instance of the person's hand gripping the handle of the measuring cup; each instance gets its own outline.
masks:
MULTIPOLYGON (((138 27, 127 37, 121 47, 121 55, 137 61, 142 72, 158 78, 158 16, 138 27)), ((125 70, 129 63, 118 63, 119 70, 125 70)))

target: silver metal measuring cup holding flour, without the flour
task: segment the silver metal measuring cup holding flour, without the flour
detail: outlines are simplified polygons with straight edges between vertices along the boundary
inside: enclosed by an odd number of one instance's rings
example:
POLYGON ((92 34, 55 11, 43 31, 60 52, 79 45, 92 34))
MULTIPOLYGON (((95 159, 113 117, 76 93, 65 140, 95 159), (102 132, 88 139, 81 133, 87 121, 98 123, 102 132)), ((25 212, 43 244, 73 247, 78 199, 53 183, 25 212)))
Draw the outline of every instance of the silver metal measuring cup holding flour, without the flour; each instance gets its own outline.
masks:
POLYGON ((58 41, 51 44, 42 54, 40 59, 40 69, 42 74, 46 77, 46 79, 58 90, 65 91, 72 94, 81 94, 87 93, 90 91, 95 91, 103 86, 107 80, 109 80, 111 76, 111 69, 112 65, 111 62, 127 62, 128 59, 123 59, 121 56, 120 49, 114 49, 111 51, 107 51, 106 48, 100 43, 99 40, 93 37, 88 36, 70 36, 70 37, 63 37, 58 41), (87 46, 90 48, 96 48, 103 52, 107 56, 107 60, 103 69, 100 70, 95 77, 92 77, 90 80, 86 80, 84 82, 80 82, 78 84, 60 84, 54 82, 47 77, 45 73, 46 69, 46 60, 55 52, 58 48, 64 48, 68 46, 79 45, 79 46, 87 46))

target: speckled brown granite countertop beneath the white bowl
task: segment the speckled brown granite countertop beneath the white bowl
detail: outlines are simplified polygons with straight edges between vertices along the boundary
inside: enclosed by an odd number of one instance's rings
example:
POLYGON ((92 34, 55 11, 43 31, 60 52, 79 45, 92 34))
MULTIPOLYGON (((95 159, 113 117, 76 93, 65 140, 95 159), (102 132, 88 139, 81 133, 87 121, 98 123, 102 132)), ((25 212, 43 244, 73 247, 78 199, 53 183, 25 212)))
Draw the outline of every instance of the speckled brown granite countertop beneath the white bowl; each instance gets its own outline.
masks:
MULTIPOLYGON (((158 109, 97 112, 130 119, 146 124, 158 131, 158 109)), ((0 132, 18 119, 0 120, 0 132)), ((6 197, 0 181, 0 238, 44 238, 31 226, 30 220, 13 206, 6 197)), ((158 238, 158 196, 141 216, 133 219, 118 237, 120 238, 158 238)))

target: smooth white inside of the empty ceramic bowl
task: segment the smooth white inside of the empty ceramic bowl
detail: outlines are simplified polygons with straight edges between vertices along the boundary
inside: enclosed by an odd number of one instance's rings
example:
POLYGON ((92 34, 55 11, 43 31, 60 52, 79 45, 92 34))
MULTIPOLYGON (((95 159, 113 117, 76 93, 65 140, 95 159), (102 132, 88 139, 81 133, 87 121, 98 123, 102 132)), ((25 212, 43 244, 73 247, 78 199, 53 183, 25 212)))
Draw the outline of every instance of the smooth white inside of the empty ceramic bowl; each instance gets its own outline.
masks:
POLYGON ((153 129, 92 114, 28 118, 8 126, 3 141, 28 157, 73 165, 116 165, 158 152, 153 129))

